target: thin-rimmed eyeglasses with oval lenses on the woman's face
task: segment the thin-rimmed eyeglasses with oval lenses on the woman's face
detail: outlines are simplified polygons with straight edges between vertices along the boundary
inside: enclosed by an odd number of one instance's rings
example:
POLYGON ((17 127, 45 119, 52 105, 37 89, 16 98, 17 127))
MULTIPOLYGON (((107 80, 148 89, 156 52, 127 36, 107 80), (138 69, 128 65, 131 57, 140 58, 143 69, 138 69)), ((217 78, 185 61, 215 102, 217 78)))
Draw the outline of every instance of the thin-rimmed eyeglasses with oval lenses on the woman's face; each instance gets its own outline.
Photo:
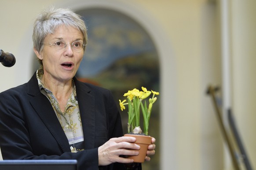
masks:
MULTIPOLYGON (((65 43, 63 41, 56 41, 54 44, 47 44, 47 43, 41 43, 41 44, 54 46, 56 51, 64 51, 66 46, 70 43, 65 43)), ((83 44, 80 41, 75 41, 70 45, 71 45, 72 50, 74 50, 75 52, 80 52, 83 50, 84 46, 87 46, 87 44, 83 44)))

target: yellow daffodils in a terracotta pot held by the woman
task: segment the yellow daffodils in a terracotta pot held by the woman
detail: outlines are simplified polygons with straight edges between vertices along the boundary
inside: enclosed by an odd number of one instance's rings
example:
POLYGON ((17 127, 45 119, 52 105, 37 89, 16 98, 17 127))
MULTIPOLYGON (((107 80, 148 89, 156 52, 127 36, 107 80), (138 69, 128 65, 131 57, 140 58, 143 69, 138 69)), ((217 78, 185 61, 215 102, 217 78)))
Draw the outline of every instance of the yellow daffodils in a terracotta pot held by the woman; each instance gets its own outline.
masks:
POLYGON ((125 105, 128 105, 128 134, 125 134, 124 136, 135 137, 136 143, 140 145, 139 155, 129 156, 137 163, 144 162, 147 147, 151 144, 151 137, 148 136, 148 127, 152 107, 157 100, 155 95, 159 95, 159 92, 154 92, 153 90, 148 91, 146 88, 142 87, 142 91, 133 89, 124 94, 124 96, 127 96, 128 102, 126 102, 126 99, 123 101, 119 99, 122 111, 125 110, 125 105), (153 94, 153 96, 149 98, 149 102, 147 103, 144 99, 148 98, 151 94, 153 94), (143 113, 143 131, 140 127, 140 111, 143 113))

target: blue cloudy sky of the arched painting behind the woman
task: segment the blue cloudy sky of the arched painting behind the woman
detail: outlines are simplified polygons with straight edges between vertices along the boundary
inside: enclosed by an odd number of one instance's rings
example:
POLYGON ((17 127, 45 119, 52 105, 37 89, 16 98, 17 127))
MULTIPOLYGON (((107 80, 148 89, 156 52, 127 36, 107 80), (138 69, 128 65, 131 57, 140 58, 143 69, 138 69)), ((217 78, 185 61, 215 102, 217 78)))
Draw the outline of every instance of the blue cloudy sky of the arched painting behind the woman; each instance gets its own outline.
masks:
POLYGON ((150 36, 134 20, 116 11, 77 11, 88 27, 88 46, 77 74, 92 77, 123 57, 155 50, 150 36))

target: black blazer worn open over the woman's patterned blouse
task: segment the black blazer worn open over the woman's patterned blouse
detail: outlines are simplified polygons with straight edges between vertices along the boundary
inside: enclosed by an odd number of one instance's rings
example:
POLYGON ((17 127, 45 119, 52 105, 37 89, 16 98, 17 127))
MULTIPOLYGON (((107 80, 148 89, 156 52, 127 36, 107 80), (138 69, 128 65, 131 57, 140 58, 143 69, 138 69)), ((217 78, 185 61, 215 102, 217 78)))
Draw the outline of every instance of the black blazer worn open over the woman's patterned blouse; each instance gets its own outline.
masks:
MULTIPOLYGON (((123 135, 121 117, 109 90, 78 81, 84 151, 71 153, 69 142, 36 73, 29 82, 0 93, 0 148, 3 159, 77 159, 80 170, 98 170, 98 147, 123 135)), ((99 167, 126 169, 122 164, 99 167), (118 167, 115 167, 118 166, 118 167)))

